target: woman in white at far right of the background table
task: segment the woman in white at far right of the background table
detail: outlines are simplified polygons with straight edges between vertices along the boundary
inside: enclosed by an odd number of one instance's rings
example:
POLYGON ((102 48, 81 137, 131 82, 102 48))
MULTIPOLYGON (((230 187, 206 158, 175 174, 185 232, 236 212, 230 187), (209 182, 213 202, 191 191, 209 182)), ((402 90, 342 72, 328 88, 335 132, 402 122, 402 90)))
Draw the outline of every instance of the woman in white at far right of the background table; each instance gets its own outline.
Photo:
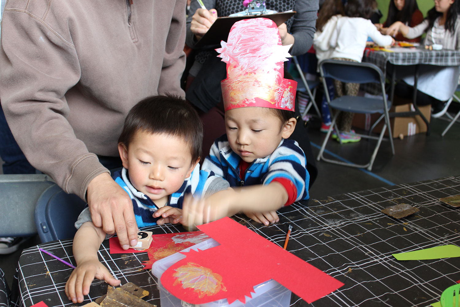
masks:
MULTIPOLYGON (((389 35, 401 33, 409 39, 426 33, 425 45, 442 45, 443 49, 460 50, 460 1, 435 0, 435 6, 428 11, 425 20, 415 27, 408 27, 397 21, 386 30, 389 35)), ((417 83, 417 104, 432 106, 433 117, 438 117, 447 111, 447 101, 455 92, 458 84, 459 67, 439 67, 423 65, 419 69, 417 83)), ((412 98, 413 75, 398 82, 395 94, 403 98, 412 98)))

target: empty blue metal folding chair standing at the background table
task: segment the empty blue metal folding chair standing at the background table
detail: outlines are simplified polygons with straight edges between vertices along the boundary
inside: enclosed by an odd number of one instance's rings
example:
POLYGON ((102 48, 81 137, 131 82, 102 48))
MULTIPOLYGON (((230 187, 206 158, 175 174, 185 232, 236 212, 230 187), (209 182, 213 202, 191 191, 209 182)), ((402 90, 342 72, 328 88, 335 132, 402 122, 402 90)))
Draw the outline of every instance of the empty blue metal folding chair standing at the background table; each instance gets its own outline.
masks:
MULTIPOLYGON (((339 165, 345 165, 355 168, 367 168, 369 171, 372 169, 372 164, 374 163, 375 156, 379 150, 380 143, 382 142, 385 129, 388 128, 389 140, 391 144, 391 152, 395 154, 395 148, 393 145, 393 139, 391 137, 391 126, 390 126, 390 117, 388 116, 388 110, 391 107, 391 102, 387 101, 385 94, 385 77, 383 76, 382 71, 379 67, 371 63, 357 63, 357 62, 347 62, 339 60, 324 60, 319 64, 320 75, 322 77, 322 84, 324 87, 324 93, 328 101, 330 109, 335 109, 339 111, 347 111, 353 113, 364 113, 364 114, 374 114, 380 113, 385 117, 385 124, 380 132, 379 137, 372 135, 362 135, 362 138, 367 139, 377 139, 377 145, 375 146, 374 152, 371 156, 371 159, 366 164, 355 164, 355 163, 346 163, 338 160, 328 159, 323 156, 324 149, 328 143, 329 136, 331 135, 333 129, 339 134, 339 129, 337 128, 336 119, 339 115, 339 112, 333 117, 331 127, 328 130, 326 138, 324 139, 319 154, 316 160, 324 160, 326 162, 335 163, 339 165), (355 97, 355 96, 342 96, 330 100, 327 90, 327 85, 325 78, 333 78, 340 80, 342 82, 349 83, 380 83, 382 88, 382 97, 381 98, 368 98, 368 97, 355 97)), ((332 111, 331 111, 331 114, 332 111)), ((340 138, 339 138, 340 140, 340 138)), ((341 141, 340 141, 341 143, 341 141)))

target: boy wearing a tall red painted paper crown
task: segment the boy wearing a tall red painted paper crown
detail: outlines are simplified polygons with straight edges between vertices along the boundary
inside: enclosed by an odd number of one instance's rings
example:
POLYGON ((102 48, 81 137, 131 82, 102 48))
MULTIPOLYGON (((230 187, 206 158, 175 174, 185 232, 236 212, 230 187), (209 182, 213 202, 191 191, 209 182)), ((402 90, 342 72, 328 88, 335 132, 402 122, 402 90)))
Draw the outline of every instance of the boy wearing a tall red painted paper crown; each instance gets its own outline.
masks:
POLYGON ((288 140, 297 122, 297 82, 283 77, 290 46, 282 46, 276 24, 266 18, 235 23, 221 46, 216 51, 227 63, 221 82, 227 133, 214 142, 202 169, 244 187, 184 200, 183 223, 242 211, 268 225, 279 220, 277 209, 309 198, 305 154, 288 140))

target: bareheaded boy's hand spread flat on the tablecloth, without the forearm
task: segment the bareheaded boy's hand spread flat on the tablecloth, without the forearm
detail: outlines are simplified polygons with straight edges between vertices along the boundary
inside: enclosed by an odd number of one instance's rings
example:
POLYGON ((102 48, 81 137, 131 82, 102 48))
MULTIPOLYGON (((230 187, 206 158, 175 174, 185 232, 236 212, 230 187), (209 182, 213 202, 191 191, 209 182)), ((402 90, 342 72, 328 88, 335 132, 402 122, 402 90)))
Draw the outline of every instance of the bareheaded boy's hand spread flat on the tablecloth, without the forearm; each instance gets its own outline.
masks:
POLYGON ((98 260, 83 261, 70 274, 65 284, 65 294, 70 301, 74 303, 83 302, 84 295, 88 295, 89 287, 94 280, 98 278, 105 280, 107 284, 118 286, 120 280, 115 279, 109 270, 98 260))

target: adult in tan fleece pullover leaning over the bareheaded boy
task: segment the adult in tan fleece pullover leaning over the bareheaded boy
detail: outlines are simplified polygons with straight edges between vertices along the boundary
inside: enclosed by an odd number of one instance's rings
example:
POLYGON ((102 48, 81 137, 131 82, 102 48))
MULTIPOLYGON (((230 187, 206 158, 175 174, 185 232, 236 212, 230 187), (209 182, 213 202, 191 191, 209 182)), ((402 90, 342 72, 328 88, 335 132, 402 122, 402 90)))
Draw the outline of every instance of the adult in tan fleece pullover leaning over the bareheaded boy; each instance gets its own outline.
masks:
POLYGON ((131 107, 177 93, 186 0, 9 0, 0 100, 29 162, 87 200, 95 225, 137 242, 131 199, 98 156, 118 156, 131 107), (134 3, 130 3, 134 2, 134 3))

